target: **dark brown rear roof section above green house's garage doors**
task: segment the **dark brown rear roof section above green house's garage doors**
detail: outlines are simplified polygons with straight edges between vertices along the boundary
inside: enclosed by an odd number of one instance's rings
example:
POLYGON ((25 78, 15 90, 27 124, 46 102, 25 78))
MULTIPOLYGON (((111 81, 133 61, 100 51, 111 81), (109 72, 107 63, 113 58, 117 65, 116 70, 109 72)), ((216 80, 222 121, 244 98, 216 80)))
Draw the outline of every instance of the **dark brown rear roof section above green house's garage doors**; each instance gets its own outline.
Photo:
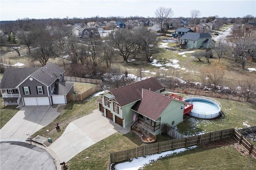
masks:
POLYGON ((164 89, 164 87, 160 85, 156 81, 156 79, 151 77, 149 79, 139 81, 137 83, 133 83, 130 85, 126 85, 124 87, 120 87, 118 89, 114 89, 109 93, 114 95, 116 102, 122 107, 141 99, 142 88, 151 89, 152 91, 164 89))

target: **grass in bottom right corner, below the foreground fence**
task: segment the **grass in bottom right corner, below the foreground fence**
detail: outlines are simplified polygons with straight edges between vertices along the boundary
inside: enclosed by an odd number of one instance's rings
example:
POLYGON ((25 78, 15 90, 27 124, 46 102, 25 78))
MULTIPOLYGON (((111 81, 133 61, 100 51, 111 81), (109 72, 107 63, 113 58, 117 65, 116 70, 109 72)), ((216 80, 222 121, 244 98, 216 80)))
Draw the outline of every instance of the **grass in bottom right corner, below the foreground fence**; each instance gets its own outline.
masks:
MULTIPOLYGON (((222 146, 214 148, 197 148, 160 158, 157 162, 151 162, 144 166, 143 170, 247 170, 249 156, 241 155, 236 148, 232 146, 222 146), (171 168, 170 168, 171 167, 171 168)), ((256 169, 256 161, 250 164, 250 170, 256 169)))

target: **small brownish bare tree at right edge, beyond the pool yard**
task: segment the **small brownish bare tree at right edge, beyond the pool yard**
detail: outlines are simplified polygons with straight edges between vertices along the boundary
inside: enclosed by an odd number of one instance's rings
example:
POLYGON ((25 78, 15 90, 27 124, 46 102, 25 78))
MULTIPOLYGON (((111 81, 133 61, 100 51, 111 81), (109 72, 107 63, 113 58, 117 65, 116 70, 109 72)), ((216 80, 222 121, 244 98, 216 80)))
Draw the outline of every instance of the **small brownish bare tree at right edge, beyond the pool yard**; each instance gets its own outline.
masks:
POLYGON ((246 77, 246 79, 240 78, 238 81, 238 85, 240 86, 242 95, 246 98, 246 101, 256 98, 256 80, 252 78, 253 76, 254 73, 252 73, 251 76, 246 77))

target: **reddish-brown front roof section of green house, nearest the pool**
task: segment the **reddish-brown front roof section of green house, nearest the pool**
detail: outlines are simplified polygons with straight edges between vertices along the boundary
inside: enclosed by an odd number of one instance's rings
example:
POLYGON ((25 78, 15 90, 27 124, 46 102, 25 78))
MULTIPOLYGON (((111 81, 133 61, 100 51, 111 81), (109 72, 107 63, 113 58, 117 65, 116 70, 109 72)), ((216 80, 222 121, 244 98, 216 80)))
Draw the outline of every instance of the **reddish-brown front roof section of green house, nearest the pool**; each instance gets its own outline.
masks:
POLYGON ((171 97, 142 89, 142 99, 131 109, 156 121, 172 100, 171 97))

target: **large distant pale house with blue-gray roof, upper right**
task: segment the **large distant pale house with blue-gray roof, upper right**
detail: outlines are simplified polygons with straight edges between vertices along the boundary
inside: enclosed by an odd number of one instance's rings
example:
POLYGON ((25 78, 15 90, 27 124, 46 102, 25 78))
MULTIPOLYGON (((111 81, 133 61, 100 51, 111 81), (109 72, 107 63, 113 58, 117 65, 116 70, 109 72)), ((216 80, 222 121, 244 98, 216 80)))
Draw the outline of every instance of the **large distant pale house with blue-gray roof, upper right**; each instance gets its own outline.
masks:
POLYGON ((182 48, 213 48, 215 43, 209 33, 188 32, 180 38, 182 48))

